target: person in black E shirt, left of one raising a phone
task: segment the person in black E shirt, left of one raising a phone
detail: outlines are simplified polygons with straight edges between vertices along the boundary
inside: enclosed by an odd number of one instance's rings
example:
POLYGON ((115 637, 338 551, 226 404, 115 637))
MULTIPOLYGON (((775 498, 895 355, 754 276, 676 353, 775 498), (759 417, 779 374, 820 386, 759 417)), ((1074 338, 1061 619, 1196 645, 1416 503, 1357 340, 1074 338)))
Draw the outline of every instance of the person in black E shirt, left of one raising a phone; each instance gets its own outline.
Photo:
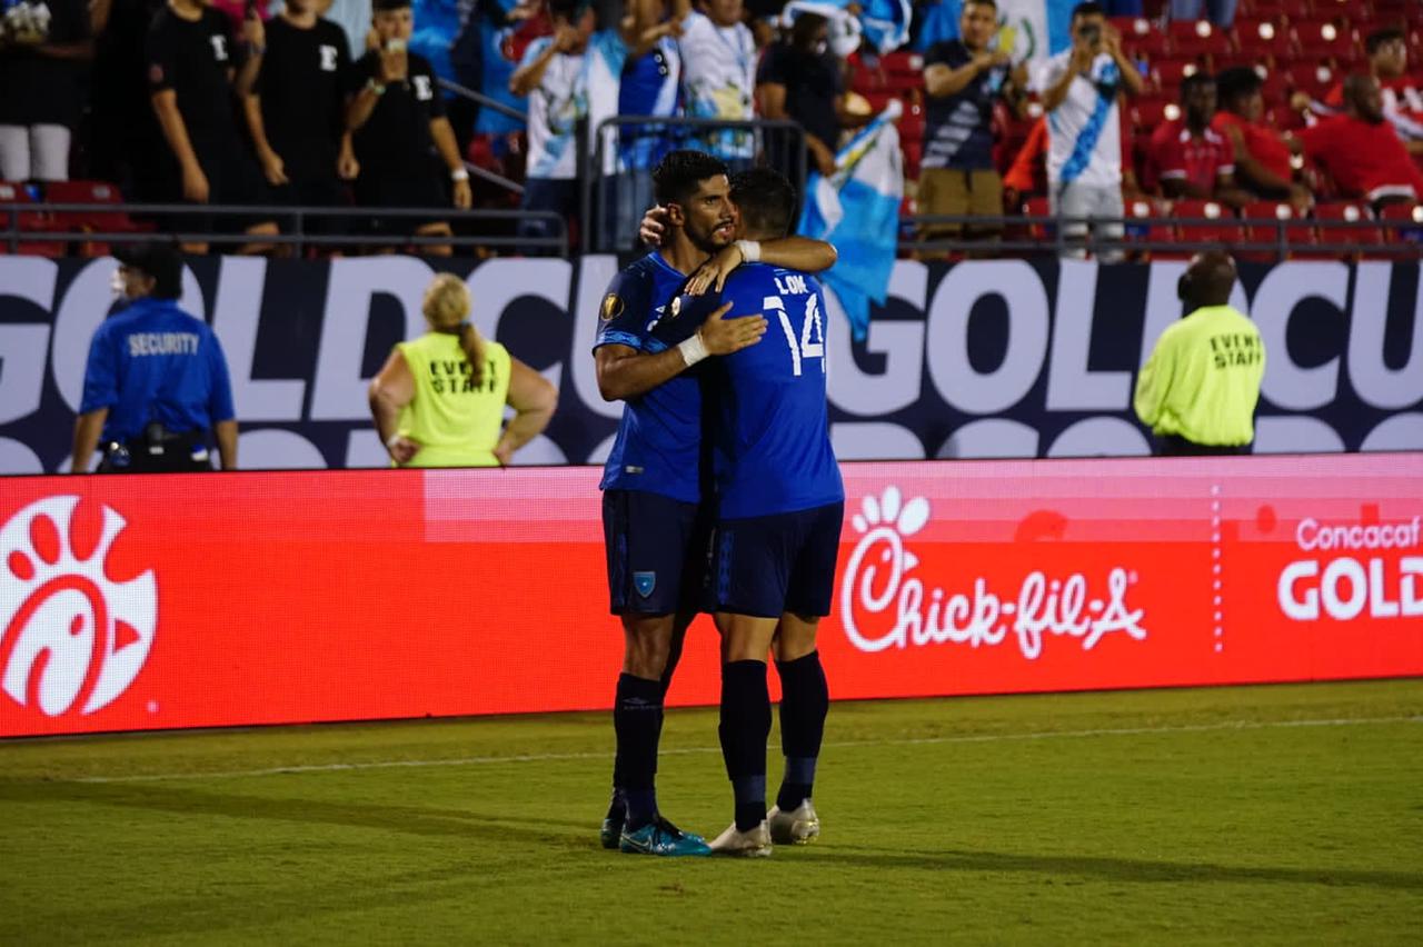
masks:
MULTIPOLYGON (((266 50, 253 55, 260 64, 243 107, 273 196, 293 206, 346 203, 340 178, 359 171, 346 134, 346 31, 320 18, 314 0, 286 0, 266 24, 266 50)), ((313 229, 340 228, 317 220, 313 229)))

